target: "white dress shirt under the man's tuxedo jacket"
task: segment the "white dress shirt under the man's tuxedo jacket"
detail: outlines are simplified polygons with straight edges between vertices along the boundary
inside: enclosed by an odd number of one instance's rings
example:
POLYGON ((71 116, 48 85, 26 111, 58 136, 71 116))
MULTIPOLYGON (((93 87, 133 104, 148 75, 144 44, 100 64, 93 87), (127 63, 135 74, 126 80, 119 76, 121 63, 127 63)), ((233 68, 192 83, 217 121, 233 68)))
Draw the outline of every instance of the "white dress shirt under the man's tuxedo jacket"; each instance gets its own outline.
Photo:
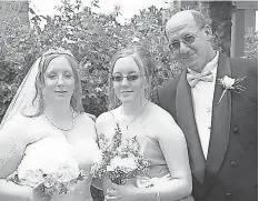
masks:
POLYGON ((219 52, 217 51, 216 57, 210 62, 208 62, 205 69, 202 70, 202 72, 208 70, 211 71, 213 74, 213 81, 199 81, 193 88, 191 88, 196 124, 200 137, 201 148, 206 159, 210 141, 212 102, 217 77, 218 59, 219 52))

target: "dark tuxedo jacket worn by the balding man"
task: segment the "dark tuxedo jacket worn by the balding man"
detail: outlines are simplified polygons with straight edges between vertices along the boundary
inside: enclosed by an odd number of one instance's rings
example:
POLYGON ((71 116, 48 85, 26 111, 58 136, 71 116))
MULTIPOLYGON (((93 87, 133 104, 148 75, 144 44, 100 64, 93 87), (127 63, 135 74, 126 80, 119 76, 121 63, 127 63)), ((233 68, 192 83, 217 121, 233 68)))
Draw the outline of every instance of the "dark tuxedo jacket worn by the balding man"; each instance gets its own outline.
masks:
POLYGON ((186 135, 196 201, 258 200, 257 66, 257 61, 230 59, 220 53, 217 79, 247 77, 240 83, 246 90, 228 91, 218 104, 223 90, 216 81, 207 160, 199 141, 187 72, 157 91, 157 104, 171 113, 186 135))

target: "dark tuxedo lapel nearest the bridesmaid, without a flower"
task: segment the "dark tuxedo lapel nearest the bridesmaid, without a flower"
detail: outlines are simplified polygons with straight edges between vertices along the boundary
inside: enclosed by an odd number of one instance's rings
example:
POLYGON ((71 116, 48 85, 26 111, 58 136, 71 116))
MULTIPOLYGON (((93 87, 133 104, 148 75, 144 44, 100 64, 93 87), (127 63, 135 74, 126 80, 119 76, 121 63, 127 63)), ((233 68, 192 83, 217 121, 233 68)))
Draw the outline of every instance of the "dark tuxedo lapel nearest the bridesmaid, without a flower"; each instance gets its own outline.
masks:
POLYGON ((187 140, 192 174, 202 182, 205 173, 205 157, 198 135, 192 107, 191 89, 187 82, 186 71, 182 72, 177 87, 176 108, 178 123, 187 140))

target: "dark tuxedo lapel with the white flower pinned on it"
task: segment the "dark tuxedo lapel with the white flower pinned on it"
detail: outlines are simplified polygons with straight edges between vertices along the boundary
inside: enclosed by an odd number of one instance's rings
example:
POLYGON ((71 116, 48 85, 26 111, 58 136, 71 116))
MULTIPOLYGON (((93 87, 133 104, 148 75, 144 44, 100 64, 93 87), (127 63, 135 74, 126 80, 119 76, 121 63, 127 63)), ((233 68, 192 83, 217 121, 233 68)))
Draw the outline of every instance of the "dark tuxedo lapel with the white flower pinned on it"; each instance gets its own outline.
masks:
POLYGON ((205 188, 208 189, 217 179, 222 164, 229 141, 230 119, 231 119, 231 94, 226 92, 222 100, 219 99, 223 89, 218 84, 218 79, 228 76, 231 78, 230 62, 223 54, 219 56, 217 80, 215 86, 212 120, 209 151, 205 170, 205 188))

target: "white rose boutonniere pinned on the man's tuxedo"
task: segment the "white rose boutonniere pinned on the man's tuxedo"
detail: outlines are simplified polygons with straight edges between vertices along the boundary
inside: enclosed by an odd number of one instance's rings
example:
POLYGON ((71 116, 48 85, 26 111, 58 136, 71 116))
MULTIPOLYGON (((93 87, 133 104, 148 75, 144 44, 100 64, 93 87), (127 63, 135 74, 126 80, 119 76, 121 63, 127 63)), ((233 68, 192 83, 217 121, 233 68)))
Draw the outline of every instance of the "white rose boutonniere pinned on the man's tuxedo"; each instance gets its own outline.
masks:
POLYGON ((247 77, 233 79, 229 78, 228 76, 225 76, 223 78, 218 79, 219 84, 223 88, 223 92, 219 99, 218 104, 220 103, 227 91, 231 90, 236 93, 241 93, 242 91, 245 91, 246 88, 239 83, 242 82, 247 77))

